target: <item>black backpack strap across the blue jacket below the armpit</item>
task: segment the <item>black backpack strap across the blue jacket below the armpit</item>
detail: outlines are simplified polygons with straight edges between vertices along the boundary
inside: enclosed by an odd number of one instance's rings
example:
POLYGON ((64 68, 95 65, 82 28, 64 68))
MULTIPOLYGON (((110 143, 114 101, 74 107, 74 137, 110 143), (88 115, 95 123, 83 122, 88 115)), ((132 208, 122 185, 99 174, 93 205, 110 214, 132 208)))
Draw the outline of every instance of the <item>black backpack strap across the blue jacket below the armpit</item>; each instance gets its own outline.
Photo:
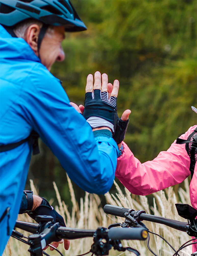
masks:
POLYGON ((24 139, 22 141, 7 144, 7 145, 1 145, 0 152, 5 152, 8 150, 14 149, 25 142, 29 142, 29 144, 32 145, 32 147, 33 147, 33 155, 36 155, 36 154, 40 153, 39 146, 38 146, 38 138, 39 137, 40 136, 37 132, 32 131, 31 134, 26 139, 24 139))

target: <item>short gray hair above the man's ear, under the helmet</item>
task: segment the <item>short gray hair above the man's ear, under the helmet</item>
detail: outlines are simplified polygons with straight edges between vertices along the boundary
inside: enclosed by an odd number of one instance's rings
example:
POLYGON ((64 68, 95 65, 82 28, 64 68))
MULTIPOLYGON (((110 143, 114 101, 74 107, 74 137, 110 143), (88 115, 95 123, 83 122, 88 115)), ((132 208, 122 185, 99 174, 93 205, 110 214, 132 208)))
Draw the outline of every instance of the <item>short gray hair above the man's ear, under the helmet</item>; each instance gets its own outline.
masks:
POLYGON ((18 23, 14 28, 14 33, 17 37, 22 37, 24 40, 26 40, 27 36, 27 30, 29 26, 37 24, 40 28, 42 28, 43 23, 40 20, 37 19, 27 19, 20 23, 18 23))

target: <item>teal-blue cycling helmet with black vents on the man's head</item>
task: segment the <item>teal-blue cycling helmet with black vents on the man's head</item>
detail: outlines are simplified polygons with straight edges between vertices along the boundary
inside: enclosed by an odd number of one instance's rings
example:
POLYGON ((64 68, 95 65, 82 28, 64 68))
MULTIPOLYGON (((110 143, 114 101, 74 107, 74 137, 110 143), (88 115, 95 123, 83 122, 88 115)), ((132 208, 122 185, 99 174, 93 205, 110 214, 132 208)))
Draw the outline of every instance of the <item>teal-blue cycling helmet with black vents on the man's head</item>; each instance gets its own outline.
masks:
POLYGON ((34 18, 45 26, 64 26, 65 31, 87 30, 69 0, 0 0, 0 24, 14 27, 34 18))

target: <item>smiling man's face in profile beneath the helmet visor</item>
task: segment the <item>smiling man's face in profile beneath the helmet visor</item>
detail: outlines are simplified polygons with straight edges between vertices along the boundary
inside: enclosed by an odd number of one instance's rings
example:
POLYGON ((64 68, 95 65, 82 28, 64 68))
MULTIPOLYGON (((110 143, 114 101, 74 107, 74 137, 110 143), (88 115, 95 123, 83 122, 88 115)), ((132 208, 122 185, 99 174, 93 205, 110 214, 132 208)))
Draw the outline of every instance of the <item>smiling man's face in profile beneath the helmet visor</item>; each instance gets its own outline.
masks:
POLYGON ((61 42, 65 38, 64 26, 49 28, 42 40, 40 59, 42 64, 50 71, 53 63, 64 60, 64 51, 61 42))

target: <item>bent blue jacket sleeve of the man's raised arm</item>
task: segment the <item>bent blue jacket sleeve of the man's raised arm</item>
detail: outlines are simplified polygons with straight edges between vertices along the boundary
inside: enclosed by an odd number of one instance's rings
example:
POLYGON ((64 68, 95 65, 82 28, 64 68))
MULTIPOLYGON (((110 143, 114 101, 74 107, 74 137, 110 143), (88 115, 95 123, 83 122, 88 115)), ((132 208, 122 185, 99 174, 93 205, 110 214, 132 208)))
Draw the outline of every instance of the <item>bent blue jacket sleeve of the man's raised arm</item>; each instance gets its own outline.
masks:
POLYGON ((69 104, 60 82, 48 71, 36 70, 29 81, 31 86, 21 97, 26 99, 21 105, 28 122, 78 186, 89 193, 106 193, 117 163, 118 147, 113 138, 94 138, 90 125, 69 104))

